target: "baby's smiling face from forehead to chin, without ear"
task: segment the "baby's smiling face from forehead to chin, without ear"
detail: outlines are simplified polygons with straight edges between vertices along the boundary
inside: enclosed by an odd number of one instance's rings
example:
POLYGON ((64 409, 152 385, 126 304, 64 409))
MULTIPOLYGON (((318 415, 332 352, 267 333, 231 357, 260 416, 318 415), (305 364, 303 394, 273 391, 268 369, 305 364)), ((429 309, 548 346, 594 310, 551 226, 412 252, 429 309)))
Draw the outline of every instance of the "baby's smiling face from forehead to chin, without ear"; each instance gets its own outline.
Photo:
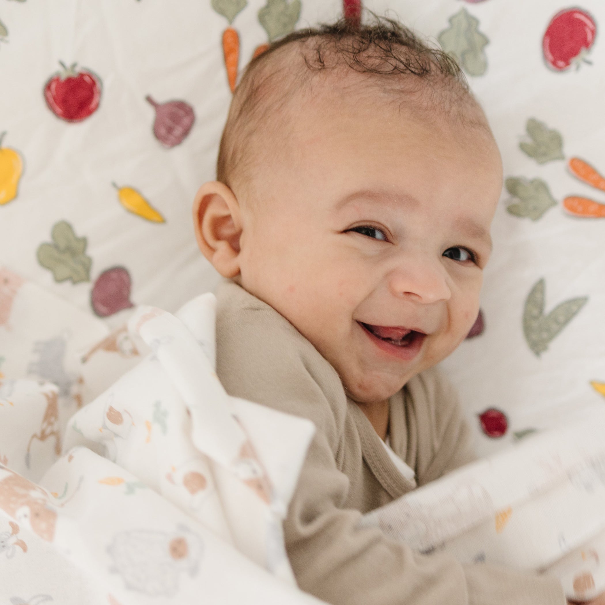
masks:
POLYGON ((312 342, 353 400, 384 401, 477 317, 499 152, 480 129, 344 96, 301 104, 289 129, 241 204, 237 281, 312 342))

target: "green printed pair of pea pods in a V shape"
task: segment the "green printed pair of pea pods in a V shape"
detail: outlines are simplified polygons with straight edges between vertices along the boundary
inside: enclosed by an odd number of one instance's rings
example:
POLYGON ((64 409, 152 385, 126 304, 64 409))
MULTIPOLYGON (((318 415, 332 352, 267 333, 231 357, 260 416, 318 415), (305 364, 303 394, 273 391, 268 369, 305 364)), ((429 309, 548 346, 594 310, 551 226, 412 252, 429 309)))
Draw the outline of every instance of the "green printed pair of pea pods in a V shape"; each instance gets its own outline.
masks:
POLYGON ((538 357, 540 353, 546 351, 549 342, 563 330, 588 300, 587 296, 569 299, 561 302, 545 315, 545 288, 542 278, 529 292, 523 312, 523 333, 529 348, 538 357))

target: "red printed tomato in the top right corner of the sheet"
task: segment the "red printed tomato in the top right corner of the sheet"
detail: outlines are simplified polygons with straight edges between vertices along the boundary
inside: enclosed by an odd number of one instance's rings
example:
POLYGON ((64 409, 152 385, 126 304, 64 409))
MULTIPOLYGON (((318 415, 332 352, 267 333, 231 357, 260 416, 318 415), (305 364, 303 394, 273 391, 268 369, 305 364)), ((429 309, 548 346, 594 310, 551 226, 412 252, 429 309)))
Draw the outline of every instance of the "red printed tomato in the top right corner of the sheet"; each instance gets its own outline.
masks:
POLYGON ((585 10, 565 8, 555 15, 546 28, 542 50, 546 65, 555 71, 565 71, 586 60, 597 34, 597 24, 585 10))

